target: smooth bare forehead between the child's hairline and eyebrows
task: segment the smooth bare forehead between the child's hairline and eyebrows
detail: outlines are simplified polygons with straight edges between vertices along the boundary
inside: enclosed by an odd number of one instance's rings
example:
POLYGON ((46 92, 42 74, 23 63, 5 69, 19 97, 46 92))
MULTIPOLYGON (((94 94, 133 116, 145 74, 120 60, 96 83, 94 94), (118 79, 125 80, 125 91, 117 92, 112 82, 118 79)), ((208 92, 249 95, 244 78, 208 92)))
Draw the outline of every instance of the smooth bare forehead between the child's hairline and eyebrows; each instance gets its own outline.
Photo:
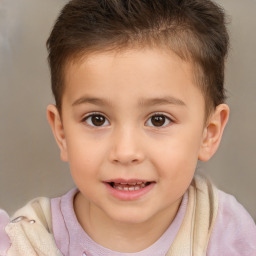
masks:
POLYGON ((131 97, 175 97, 185 102, 193 95, 203 97, 192 68, 158 48, 94 53, 68 63, 63 97, 74 101, 84 94, 123 103, 131 97))

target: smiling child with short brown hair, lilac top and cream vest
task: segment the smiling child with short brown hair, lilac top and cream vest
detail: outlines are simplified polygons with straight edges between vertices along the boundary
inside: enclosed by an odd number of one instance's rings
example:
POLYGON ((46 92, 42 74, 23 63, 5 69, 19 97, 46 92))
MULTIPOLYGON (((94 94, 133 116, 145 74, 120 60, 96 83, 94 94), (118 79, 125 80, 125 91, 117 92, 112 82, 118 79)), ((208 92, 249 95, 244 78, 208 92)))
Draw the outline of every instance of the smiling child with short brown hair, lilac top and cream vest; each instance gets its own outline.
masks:
POLYGON ((2 211, 0 255, 256 255, 246 210, 194 175, 229 116, 222 9, 73 0, 47 46, 48 120, 77 188, 2 211))

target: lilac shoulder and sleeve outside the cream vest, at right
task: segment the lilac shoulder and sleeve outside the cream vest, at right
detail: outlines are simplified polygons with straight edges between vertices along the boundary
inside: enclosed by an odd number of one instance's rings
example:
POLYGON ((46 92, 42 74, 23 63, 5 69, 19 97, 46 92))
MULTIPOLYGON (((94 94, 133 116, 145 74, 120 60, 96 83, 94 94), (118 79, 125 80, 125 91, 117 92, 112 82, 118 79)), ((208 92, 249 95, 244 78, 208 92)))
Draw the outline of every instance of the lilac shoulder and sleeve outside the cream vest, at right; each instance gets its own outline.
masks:
POLYGON ((207 256, 256 255, 256 225, 234 196, 219 191, 219 208, 207 256))

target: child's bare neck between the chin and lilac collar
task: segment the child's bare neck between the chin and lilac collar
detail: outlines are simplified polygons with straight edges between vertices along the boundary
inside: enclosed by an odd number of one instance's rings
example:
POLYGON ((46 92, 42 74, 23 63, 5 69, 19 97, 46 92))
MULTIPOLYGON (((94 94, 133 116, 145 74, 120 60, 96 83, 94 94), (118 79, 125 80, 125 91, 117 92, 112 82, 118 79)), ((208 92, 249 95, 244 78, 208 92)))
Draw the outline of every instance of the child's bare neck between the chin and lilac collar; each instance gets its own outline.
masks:
POLYGON ((96 243, 112 251, 134 253, 148 248, 161 237, 175 218, 181 200, 142 223, 112 220, 80 193, 75 197, 74 209, 80 225, 96 243))

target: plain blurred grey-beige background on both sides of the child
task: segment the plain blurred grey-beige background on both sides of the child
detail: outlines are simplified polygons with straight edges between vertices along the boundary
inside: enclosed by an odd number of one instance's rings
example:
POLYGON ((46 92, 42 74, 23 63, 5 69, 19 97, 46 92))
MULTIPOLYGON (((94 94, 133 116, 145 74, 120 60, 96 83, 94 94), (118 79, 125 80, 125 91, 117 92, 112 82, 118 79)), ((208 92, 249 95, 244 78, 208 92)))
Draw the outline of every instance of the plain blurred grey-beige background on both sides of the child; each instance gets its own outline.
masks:
MULTIPOLYGON (((45 41, 64 0, 0 0, 0 207, 12 213, 37 196, 74 186, 59 159, 46 106, 53 103, 45 41)), ((256 219, 256 1, 218 1, 229 15, 229 124, 200 172, 256 219)))

